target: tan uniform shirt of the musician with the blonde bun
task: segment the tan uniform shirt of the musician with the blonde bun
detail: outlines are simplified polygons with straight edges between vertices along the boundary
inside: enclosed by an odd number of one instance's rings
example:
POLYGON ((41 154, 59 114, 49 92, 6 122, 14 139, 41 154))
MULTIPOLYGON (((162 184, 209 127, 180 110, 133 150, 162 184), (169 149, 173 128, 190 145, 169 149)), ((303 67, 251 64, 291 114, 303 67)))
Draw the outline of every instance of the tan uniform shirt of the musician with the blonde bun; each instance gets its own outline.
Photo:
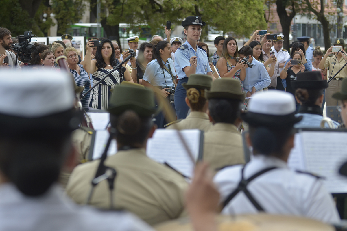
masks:
POLYGON ((209 115, 204 112, 191 112, 189 115, 175 125, 171 124, 167 129, 200 129, 204 132, 209 131, 213 124, 210 122, 209 115))

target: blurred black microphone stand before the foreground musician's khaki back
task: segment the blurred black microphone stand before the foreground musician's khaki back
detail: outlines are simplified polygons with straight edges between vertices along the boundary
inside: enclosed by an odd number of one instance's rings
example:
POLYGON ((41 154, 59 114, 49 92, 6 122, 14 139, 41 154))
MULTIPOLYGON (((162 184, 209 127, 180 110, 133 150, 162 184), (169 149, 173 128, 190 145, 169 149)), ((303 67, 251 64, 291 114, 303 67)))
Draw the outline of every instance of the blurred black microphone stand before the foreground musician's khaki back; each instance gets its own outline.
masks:
POLYGON ((94 179, 92 180, 92 188, 91 188, 91 190, 89 192, 89 195, 88 195, 88 198, 86 200, 86 204, 89 204, 90 200, 92 199, 95 186, 97 184, 99 184, 101 181, 107 179, 108 184, 109 184, 109 189, 110 189, 110 209, 111 210, 113 208, 113 195, 112 195, 112 192, 113 192, 113 189, 115 188, 114 187, 114 183, 115 183, 115 178, 116 178, 117 172, 116 172, 116 170, 114 168, 105 166, 104 162, 105 162, 105 160, 107 158, 107 151, 108 151, 108 149, 110 147, 112 138, 113 138, 113 136, 115 134, 116 134, 116 129, 115 128, 111 128, 110 136, 109 136, 109 139, 107 140, 107 144, 106 144, 105 150, 102 153, 102 156, 100 158, 99 167, 96 170, 94 179))

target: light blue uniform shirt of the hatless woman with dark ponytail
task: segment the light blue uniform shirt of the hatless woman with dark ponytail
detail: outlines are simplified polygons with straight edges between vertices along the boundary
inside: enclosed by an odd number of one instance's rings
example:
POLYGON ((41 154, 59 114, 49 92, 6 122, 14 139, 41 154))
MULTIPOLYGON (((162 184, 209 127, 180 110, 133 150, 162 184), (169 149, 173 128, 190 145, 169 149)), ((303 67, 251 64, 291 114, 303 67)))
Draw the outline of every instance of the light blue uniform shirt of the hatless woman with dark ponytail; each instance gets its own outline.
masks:
MULTIPOLYGON (((164 61, 161 60, 163 63, 164 61)), ((172 75, 175 76, 175 68, 174 68, 174 62, 171 58, 169 58, 166 63, 164 63, 166 68, 170 70, 172 75), (170 65, 170 68, 169 68, 170 65)), ((160 86, 162 88, 164 87, 175 87, 174 82, 172 81, 172 77, 170 72, 168 72, 165 68, 161 68, 158 60, 152 60, 149 64, 147 64, 146 71, 143 74, 143 80, 146 80, 153 86, 160 86), (165 78, 164 78, 165 77, 165 78)))

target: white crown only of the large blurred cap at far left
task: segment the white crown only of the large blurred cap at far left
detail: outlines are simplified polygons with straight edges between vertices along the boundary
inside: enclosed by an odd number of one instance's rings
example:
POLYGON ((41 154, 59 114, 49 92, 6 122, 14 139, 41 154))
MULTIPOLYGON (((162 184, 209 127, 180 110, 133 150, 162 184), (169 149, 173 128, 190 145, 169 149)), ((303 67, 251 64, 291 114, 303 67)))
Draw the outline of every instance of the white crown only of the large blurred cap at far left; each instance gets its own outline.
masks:
POLYGON ((0 114, 36 118, 74 106, 70 73, 54 70, 1 71, 0 114))

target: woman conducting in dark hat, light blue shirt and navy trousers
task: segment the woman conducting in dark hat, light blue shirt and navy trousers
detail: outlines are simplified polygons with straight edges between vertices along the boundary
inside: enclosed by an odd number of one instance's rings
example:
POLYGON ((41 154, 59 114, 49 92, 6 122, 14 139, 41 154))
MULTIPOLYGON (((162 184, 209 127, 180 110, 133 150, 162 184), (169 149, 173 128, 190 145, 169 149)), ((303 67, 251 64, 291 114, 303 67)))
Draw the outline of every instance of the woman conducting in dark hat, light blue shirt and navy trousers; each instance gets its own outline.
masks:
POLYGON ((182 83, 188 81, 191 74, 208 74, 212 76, 206 52, 196 45, 200 39, 201 29, 206 23, 198 16, 189 16, 182 21, 187 41, 175 53, 175 69, 177 71, 177 88, 175 92, 175 107, 177 119, 187 116, 189 107, 186 104, 186 89, 182 83), (196 54, 195 54, 196 53, 196 54))

